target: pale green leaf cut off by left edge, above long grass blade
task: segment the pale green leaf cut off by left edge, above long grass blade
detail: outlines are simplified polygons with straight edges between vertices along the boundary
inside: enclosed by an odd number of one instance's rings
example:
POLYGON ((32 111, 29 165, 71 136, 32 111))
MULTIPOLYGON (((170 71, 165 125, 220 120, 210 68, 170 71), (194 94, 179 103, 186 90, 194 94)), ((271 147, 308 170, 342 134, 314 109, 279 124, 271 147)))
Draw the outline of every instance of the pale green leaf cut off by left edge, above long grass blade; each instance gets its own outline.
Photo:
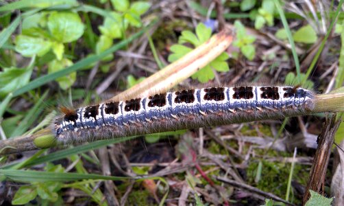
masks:
POLYGON ((0 98, 25 86, 31 77, 32 68, 4 68, 0 72, 0 98))

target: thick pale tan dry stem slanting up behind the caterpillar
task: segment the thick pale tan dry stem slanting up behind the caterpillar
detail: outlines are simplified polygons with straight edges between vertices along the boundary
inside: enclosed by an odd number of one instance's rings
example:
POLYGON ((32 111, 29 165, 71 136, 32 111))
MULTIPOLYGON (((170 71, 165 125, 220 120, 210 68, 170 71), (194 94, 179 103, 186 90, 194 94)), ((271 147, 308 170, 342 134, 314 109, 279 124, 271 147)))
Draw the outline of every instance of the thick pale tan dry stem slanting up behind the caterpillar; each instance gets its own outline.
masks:
POLYGON ((128 98, 143 98, 154 93, 164 93, 208 65, 227 49, 233 41, 232 32, 223 30, 164 69, 149 76, 145 81, 136 84, 123 93, 116 95, 112 101, 128 98))

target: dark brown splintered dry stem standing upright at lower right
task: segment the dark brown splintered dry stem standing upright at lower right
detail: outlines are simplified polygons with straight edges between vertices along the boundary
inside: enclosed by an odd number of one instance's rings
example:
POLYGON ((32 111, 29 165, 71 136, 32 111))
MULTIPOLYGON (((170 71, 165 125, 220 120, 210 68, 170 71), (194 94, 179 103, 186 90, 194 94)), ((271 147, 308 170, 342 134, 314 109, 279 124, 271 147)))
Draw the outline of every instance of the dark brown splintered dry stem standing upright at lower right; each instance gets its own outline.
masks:
POLYGON ((313 190, 319 194, 323 194, 324 192, 325 175, 328 168, 328 161, 331 155, 334 135, 336 134, 339 124, 341 124, 341 119, 339 118, 336 121, 336 115, 332 115, 332 117, 326 119, 325 124, 323 124, 323 128, 321 128, 321 134, 318 137, 319 142, 317 152, 315 152, 306 192, 302 200, 303 205, 306 204, 308 198, 310 197, 309 190, 313 190))

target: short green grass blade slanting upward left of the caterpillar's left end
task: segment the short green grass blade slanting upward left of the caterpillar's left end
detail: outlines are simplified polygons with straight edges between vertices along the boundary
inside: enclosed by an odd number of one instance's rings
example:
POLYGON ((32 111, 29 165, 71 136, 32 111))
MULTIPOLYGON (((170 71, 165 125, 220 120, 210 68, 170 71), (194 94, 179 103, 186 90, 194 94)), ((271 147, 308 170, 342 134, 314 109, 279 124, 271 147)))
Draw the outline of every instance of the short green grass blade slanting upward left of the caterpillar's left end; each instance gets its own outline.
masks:
POLYGON ((45 98, 47 97, 47 94, 48 94, 48 91, 46 91, 42 95, 42 97, 37 101, 34 107, 31 108, 29 112, 26 113, 24 119, 21 121, 21 123, 19 123, 16 130, 14 130, 13 133, 11 134, 11 137, 23 135, 23 133, 25 133, 25 131, 29 128, 29 126, 31 126, 38 117, 40 117, 39 114, 43 111, 42 109, 43 100, 45 100, 45 98))

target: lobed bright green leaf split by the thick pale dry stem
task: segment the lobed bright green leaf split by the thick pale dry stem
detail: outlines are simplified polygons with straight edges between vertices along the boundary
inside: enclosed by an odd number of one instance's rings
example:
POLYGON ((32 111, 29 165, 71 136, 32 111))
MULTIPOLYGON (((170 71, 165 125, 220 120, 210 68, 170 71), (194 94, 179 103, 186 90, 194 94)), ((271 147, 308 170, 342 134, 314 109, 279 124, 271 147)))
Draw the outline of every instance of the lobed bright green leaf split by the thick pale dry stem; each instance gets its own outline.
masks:
MULTIPOLYGON (((198 47, 199 45, 208 41, 210 36, 211 29, 206 27, 206 25, 204 25, 203 23, 199 23, 199 25, 197 25, 196 34, 190 31, 183 31, 182 36, 180 36, 180 38, 178 39, 179 44, 173 45, 170 48, 172 54, 169 55, 169 62, 174 62, 193 50, 190 47, 182 45, 183 43, 191 43, 194 47, 198 47)), ((229 71, 230 68, 228 67, 228 63, 226 62, 228 58, 228 54, 223 52, 222 54, 220 54, 220 56, 212 60, 212 62, 210 62, 208 65, 194 73, 193 76, 191 76, 191 78, 197 79, 199 82, 205 83, 209 80, 214 79, 214 70, 221 72, 229 71)))

